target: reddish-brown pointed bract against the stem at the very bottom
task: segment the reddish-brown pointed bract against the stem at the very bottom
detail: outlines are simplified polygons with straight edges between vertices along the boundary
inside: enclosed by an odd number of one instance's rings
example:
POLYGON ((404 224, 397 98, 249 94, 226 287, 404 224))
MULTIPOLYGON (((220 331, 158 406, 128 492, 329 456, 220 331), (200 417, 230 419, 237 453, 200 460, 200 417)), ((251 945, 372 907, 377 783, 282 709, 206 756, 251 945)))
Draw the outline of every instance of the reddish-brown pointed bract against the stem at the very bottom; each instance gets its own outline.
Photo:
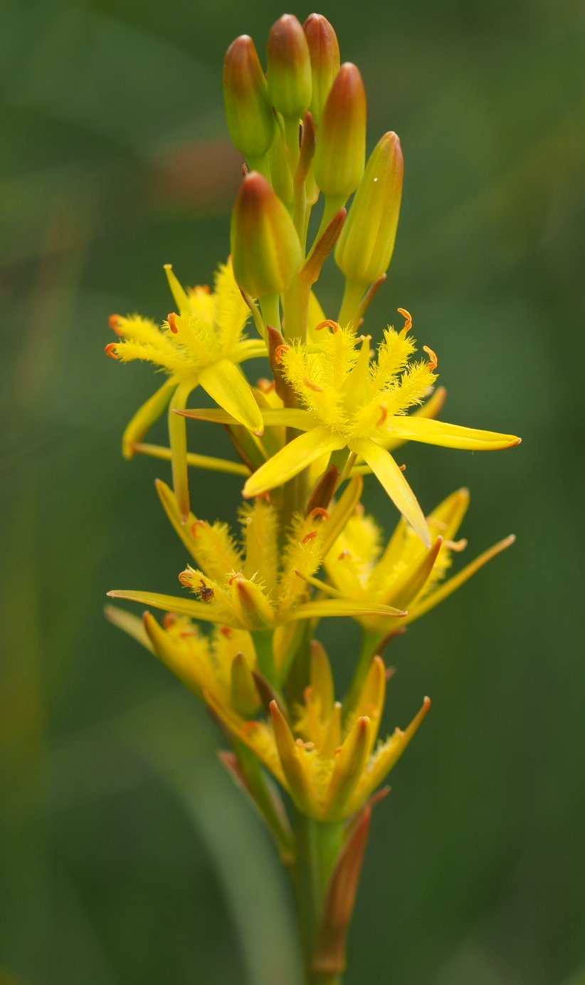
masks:
POLYGON ((371 809, 358 815, 327 886, 323 917, 311 970, 324 980, 346 970, 346 938, 356 904, 357 886, 369 834, 371 809))

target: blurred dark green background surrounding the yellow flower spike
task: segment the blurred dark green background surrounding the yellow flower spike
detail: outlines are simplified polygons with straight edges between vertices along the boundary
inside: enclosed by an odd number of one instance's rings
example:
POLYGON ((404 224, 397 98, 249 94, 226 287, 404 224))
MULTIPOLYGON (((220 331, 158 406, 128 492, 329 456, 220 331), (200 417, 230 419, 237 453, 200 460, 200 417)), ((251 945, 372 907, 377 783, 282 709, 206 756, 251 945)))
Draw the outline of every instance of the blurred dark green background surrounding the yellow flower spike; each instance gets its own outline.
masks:
MULTIPOLYGON (((244 32, 263 52, 283 9, 1 9, 0 982, 299 985, 285 877, 203 707, 102 617, 107 589, 174 591, 185 561, 154 494, 166 466, 120 457, 155 380, 103 357, 106 317, 162 318, 162 263, 205 283, 226 257, 223 52, 244 32)), ((321 11, 364 76, 370 147, 395 129, 406 158, 369 330, 409 308, 445 420, 524 437, 404 453, 427 510, 471 488, 469 557, 518 542, 387 652, 388 728, 423 693, 433 709, 373 816, 347 982, 582 985, 585 12, 321 11)), ((338 290, 331 271, 328 313, 338 290)), ((234 515, 236 480, 192 485, 200 515, 234 515)), ((367 504, 390 530, 373 485, 367 504)), ((324 638, 347 675, 355 628, 324 638)))

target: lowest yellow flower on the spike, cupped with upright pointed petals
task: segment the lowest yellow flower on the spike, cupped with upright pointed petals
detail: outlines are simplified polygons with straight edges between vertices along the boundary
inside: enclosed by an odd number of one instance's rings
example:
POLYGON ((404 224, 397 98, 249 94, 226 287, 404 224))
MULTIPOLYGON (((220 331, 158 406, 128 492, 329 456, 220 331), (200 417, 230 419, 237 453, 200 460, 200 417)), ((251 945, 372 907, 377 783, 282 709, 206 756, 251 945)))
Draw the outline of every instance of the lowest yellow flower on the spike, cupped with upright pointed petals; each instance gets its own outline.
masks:
POLYGON ((290 792, 297 808, 321 821, 350 817, 383 782, 421 725, 430 701, 406 731, 396 729, 376 744, 386 690, 386 671, 374 657, 356 706, 342 721, 334 700, 331 667, 320 644, 314 644, 310 685, 304 704, 289 720, 273 700, 271 720, 248 720, 212 691, 205 697, 229 731, 244 743, 290 792))

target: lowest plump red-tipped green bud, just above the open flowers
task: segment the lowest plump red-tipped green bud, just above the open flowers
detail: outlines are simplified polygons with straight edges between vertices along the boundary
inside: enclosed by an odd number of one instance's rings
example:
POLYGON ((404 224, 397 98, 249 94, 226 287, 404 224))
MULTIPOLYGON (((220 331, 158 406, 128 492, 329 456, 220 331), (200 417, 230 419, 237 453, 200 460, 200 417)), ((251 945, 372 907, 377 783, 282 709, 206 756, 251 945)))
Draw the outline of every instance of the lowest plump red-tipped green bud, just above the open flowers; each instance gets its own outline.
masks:
POLYGON ((252 297, 291 287, 302 261, 291 216, 266 178, 251 171, 242 181, 231 217, 235 281, 252 297))

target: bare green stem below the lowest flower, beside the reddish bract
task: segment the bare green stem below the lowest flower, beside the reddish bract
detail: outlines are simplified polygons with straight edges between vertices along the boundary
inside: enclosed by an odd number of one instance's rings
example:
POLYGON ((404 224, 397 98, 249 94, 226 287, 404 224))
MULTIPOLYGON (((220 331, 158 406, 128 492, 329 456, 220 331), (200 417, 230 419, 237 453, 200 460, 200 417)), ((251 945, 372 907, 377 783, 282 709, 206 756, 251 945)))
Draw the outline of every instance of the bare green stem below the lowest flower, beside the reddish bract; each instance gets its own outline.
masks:
POLYGON ((342 848, 343 821, 316 821, 296 813, 296 893, 300 934, 310 985, 334 985, 340 982, 337 975, 312 970, 312 960, 317 945, 325 892, 331 873, 342 848))

